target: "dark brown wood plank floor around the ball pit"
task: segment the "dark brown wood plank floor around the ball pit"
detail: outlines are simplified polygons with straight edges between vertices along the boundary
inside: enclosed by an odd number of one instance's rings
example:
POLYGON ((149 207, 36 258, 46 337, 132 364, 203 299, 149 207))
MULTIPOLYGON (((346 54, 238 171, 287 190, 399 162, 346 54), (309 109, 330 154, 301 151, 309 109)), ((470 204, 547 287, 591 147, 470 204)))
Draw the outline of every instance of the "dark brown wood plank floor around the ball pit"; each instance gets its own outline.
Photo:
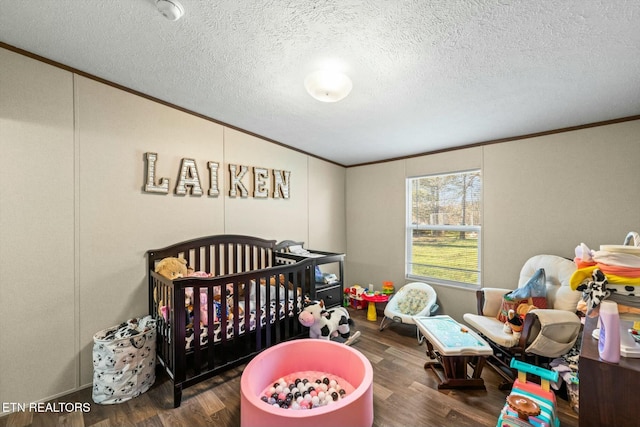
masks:
MULTIPOLYGON (((489 366, 482 372, 486 391, 440 391, 435 374, 424 369, 426 345, 418 345, 415 326, 394 323, 380 332, 380 318, 378 322, 370 322, 366 310, 350 312, 354 330, 362 333, 353 347, 373 366, 375 427, 496 425, 508 392, 498 390, 501 377, 489 366)), ((15 412, 1 417, 0 427, 239 426, 243 367, 186 389, 177 409, 173 408, 171 382, 159 373, 148 392, 128 402, 95 404, 89 387, 56 400, 88 402, 88 412, 15 412)), ((578 416, 566 400, 558 398, 557 410, 562 426, 578 425, 578 416)))

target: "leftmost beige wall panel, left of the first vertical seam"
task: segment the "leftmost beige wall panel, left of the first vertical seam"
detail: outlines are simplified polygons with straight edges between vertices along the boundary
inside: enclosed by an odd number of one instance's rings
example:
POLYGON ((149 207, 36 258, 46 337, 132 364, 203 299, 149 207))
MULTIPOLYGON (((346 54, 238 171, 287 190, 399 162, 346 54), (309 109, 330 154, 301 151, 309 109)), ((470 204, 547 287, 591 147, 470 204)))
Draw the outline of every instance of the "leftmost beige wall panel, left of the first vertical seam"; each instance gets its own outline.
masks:
POLYGON ((79 381, 71 74, 0 49, 0 151, 0 402, 23 402, 79 381))

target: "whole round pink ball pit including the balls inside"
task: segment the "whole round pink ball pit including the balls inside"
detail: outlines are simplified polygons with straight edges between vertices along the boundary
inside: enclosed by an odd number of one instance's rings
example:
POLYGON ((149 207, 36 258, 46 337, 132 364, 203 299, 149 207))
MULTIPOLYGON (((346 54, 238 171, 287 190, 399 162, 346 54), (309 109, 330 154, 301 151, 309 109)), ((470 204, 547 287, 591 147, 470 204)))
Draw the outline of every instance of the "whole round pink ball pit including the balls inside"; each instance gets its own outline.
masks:
POLYGON ((247 364, 240 383, 243 427, 373 425, 373 368, 350 346, 319 339, 277 344, 247 364), (308 372, 318 376, 307 376, 308 372), (288 385, 290 402, 287 396, 278 404, 268 395, 276 382, 283 392, 288 385))

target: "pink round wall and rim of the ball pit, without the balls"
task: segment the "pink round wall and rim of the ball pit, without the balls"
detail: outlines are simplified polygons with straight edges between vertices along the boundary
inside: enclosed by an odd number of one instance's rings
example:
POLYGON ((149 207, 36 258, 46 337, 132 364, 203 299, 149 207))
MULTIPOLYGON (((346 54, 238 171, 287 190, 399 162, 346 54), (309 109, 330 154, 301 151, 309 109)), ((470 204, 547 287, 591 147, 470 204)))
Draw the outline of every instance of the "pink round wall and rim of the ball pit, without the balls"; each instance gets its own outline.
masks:
POLYGON ((263 351, 242 373, 240 395, 240 425, 245 427, 373 425, 371 363, 359 351, 332 341, 299 339, 263 351), (337 375, 355 390, 337 402, 313 409, 283 409, 260 399, 275 379, 299 371, 337 375))

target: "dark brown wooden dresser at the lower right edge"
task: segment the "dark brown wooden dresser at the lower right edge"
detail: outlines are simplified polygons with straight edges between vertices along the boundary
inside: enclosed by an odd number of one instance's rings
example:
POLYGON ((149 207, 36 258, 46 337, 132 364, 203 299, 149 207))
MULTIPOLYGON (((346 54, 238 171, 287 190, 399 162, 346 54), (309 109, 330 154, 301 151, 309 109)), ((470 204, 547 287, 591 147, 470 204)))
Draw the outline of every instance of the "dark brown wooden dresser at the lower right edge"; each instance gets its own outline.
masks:
POLYGON ((587 318, 580 350, 580 427, 640 425, 640 359, 603 362, 591 336, 597 318, 587 318))

